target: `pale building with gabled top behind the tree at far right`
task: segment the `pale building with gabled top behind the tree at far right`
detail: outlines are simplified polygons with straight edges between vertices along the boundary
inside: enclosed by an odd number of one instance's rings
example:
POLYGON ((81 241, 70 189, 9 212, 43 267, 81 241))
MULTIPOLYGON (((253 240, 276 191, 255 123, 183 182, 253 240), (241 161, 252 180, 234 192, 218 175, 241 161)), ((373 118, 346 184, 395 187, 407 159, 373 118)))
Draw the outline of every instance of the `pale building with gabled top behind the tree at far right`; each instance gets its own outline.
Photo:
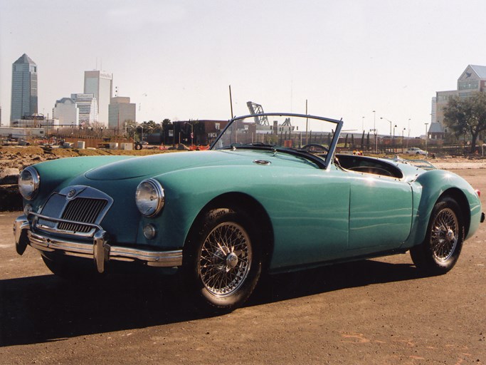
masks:
POLYGON ((451 98, 467 98, 471 93, 486 92, 486 66, 468 65, 458 78, 458 89, 437 91, 435 96, 435 115, 428 130, 429 138, 441 139, 447 133, 444 125, 444 108, 451 98))

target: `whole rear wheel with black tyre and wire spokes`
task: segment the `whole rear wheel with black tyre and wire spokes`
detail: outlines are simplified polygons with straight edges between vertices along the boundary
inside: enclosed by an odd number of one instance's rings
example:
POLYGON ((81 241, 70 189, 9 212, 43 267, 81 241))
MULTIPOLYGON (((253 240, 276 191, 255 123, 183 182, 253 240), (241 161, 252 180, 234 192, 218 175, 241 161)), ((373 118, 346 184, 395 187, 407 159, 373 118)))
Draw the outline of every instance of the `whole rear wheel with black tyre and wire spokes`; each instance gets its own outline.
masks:
POLYGON ((458 203, 451 197, 441 198, 430 215, 426 239, 410 250, 413 263, 430 274, 445 274, 458 261, 464 231, 458 203))

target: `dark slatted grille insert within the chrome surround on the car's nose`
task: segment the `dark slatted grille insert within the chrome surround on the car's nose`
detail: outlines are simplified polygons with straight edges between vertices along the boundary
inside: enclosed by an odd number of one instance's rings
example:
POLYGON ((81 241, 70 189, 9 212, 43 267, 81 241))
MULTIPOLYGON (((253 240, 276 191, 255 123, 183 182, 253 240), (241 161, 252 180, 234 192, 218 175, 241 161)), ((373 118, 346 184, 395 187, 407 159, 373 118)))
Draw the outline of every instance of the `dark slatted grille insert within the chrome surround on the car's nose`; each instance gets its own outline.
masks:
POLYGON ((106 205, 107 201, 100 199, 78 197, 74 200, 70 200, 68 205, 66 205, 61 218, 76 223, 59 222, 58 230, 81 233, 90 232, 92 227, 80 223, 94 224, 106 205))

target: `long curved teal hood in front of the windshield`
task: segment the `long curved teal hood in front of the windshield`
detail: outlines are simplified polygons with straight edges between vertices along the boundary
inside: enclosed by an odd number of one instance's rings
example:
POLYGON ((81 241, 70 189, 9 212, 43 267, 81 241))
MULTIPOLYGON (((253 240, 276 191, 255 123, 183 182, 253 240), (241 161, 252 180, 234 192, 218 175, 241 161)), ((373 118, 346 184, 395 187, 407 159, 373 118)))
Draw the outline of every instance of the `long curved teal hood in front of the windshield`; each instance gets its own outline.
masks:
POLYGON ((195 151, 184 153, 162 153, 144 157, 130 157, 116 161, 85 173, 90 180, 125 180, 157 176, 176 170, 200 168, 204 166, 250 165, 255 160, 268 160, 272 165, 292 165, 292 167, 316 168, 303 158, 287 154, 256 152, 249 150, 195 151))

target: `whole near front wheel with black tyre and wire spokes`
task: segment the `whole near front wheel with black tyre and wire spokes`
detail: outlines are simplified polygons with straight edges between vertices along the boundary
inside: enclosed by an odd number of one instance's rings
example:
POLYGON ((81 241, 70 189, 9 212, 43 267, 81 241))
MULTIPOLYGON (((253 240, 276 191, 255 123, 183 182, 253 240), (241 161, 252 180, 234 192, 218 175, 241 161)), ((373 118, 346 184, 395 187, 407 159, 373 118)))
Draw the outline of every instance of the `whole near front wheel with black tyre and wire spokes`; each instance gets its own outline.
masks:
POLYGON ((201 309, 230 311, 255 289, 262 267, 258 230, 238 208, 206 212, 184 247, 183 277, 201 309))

